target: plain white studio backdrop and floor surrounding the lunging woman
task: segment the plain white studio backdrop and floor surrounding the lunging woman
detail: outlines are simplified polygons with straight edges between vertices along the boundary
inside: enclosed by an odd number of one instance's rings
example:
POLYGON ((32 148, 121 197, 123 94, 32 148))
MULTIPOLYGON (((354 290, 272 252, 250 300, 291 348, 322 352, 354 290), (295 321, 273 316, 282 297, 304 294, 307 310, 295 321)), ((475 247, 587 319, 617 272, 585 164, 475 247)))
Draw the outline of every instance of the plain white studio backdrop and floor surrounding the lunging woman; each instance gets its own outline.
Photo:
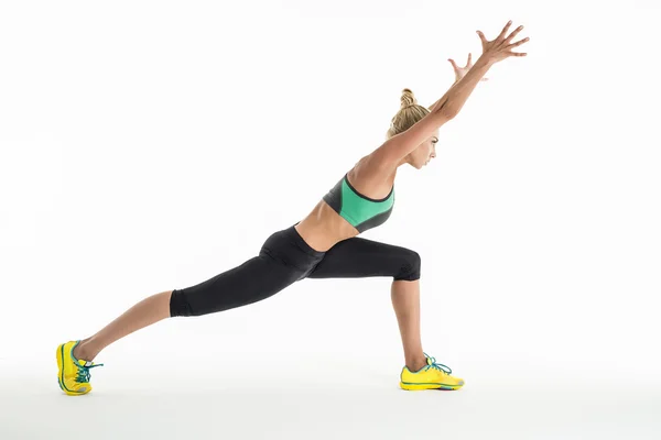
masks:
POLYGON ((660 7, 236 3, 1 3, 0 437, 658 438, 660 7), (162 321, 62 395, 58 343, 256 255, 509 19, 528 57, 364 234, 421 254, 424 349, 462 391, 398 388, 370 278, 162 321))

